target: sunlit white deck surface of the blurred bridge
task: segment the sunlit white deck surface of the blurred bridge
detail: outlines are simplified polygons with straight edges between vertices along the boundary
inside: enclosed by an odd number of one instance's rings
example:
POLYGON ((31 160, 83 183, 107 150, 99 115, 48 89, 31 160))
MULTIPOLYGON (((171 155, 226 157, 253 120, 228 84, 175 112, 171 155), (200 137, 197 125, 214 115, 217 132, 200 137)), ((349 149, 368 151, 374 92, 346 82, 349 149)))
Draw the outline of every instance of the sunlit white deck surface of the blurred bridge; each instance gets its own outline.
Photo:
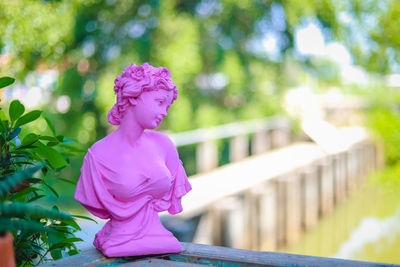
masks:
POLYGON ((191 176, 193 190, 182 199, 184 211, 174 216, 191 218, 222 198, 241 193, 325 156, 318 145, 297 143, 226 164, 206 174, 191 176))

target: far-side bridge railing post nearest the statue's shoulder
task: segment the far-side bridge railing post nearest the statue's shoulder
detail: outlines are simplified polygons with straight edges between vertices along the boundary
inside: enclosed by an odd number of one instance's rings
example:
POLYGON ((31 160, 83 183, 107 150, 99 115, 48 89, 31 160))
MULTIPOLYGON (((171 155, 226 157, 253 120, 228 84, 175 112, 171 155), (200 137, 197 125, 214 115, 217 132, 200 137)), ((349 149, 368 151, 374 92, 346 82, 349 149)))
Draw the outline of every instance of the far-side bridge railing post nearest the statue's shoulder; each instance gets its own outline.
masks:
POLYGON ((196 153, 197 173, 206 172, 218 166, 218 149, 215 140, 199 143, 196 153))

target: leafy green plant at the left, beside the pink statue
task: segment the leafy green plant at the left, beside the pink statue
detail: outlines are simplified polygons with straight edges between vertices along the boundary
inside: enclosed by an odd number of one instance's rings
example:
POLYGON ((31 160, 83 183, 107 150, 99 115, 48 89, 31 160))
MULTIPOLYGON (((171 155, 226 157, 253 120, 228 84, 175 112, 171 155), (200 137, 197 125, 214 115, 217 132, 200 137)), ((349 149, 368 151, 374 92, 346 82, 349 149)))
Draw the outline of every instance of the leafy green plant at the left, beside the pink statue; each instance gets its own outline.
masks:
MULTIPOLYGON (((4 80, 10 85, 12 80, 4 80)), ((42 111, 25 113, 18 100, 10 103, 8 117, 0 114, 0 231, 12 231, 18 265, 36 265, 59 259, 65 253, 74 255, 78 249, 74 236, 80 230, 73 216, 58 210, 57 206, 45 209, 34 205, 36 201, 52 194, 59 198, 51 186, 60 170, 67 167, 67 155, 81 150, 64 136, 57 135, 51 121, 45 118, 52 135, 26 132, 22 127, 34 122, 42 111), (21 141, 22 140, 22 141, 21 141)), ((68 181, 60 178, 59 180, 68 181)))

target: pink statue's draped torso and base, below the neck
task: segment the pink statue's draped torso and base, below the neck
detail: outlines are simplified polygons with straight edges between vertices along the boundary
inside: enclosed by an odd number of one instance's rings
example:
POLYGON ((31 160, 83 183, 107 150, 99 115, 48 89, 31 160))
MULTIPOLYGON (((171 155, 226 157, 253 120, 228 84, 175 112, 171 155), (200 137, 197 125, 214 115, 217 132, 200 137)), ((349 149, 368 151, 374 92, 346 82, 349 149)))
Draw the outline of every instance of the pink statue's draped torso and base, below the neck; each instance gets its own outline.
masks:
POLYGON ((108 257, 182 250, 158 212, 181 212, 181 198, 191 186, 169 138, 145 133, 150 140, 145 151, 110 152, 113 147, 102 139, 83 161, 75 199, 93 215, 109 219, 94 240, 108 257))

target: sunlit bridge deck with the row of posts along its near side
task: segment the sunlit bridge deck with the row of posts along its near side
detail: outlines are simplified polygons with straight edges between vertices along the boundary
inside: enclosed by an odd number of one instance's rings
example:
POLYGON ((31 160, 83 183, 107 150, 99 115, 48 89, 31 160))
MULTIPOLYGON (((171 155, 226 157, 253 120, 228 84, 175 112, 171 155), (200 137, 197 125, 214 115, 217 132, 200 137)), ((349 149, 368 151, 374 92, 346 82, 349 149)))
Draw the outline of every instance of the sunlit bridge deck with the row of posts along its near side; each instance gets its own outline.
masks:
POLYGON ((342 202, 375 158, 363 134, 333 154, 315 143, 292 144, 192 176, 193 191, 175 216, 201 215, 194 243, 273 251, 298 240, 342 202))

